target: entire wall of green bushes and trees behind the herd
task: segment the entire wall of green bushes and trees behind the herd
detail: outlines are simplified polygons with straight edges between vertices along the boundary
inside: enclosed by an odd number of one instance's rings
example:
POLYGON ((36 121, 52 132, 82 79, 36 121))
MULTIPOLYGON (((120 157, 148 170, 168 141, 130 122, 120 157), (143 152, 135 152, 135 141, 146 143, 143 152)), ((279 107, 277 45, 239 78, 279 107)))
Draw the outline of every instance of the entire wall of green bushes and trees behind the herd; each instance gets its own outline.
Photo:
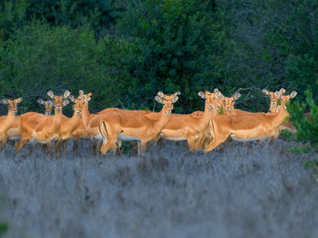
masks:
MULTIPOLYGON (((260 87, 318 101, 317 9, 307 1, 5 0, 0 3, 0 96, 96 89, 91 110, 155 109, 156 92, 182 90, 176 112, 202 109, 217 86, 237 107, 267 111, 260 87)), ((306 109, 308 110, 308 109, 306 109)), ((1 107, 1 115, 5 108, 1 107)), ((71 110, 67 109, 67 115, 71 110)))

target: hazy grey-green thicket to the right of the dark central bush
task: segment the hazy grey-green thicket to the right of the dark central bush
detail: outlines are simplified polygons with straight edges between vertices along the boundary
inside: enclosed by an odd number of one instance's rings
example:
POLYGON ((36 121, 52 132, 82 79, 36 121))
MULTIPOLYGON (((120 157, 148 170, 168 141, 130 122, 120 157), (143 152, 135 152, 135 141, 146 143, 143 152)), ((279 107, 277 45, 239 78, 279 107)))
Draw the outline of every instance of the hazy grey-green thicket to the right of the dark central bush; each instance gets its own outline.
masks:
POLYGON ((229 37, 221 57, 223 64, 230 63, 226 85, 311 89, 318 102, 317 1, 218 0, 217 5, 225 13, 229 37))

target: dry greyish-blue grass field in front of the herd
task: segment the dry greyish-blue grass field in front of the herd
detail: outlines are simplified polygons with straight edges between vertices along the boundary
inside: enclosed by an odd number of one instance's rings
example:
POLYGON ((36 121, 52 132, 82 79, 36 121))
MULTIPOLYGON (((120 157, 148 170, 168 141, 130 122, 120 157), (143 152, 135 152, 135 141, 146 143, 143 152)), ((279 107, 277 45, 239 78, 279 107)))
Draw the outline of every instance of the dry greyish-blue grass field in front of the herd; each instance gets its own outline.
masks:
POLYGON ((8 145, 4 237, 318 237, 318 183, 303 168, 317 154, 291 145, 230 143, 206 156, 166 143, 145 156, 89 158, 85 141, 76 158, 53 162, 8 145))

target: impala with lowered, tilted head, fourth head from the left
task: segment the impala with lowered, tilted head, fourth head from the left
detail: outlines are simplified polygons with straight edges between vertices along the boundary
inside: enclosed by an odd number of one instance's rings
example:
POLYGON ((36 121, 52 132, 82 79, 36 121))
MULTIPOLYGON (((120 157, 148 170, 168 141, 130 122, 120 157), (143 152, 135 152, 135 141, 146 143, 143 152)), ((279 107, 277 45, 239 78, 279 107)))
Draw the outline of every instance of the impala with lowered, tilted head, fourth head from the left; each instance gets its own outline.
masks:
POLYGON ((69 96, 69 100, 74 102, 73 117, 68 118, 64 115, 61 117, 61 128, 59 129, 59 138, 55 144, 56 154, 59 156, 61 152, 61 142, 63 145, 64 155, 66 155, 67 140, 73 135, 74 130, 78 127, 81 121, 81 113, 84 104, 83 99, 75 99, 72 95, 69 96))

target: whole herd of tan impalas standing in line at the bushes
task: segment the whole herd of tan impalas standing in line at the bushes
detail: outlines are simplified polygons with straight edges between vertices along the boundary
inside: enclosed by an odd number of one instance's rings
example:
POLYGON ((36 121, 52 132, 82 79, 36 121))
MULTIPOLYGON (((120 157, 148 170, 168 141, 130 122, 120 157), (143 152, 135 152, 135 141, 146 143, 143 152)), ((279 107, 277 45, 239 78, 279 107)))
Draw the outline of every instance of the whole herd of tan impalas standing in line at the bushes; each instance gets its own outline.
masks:
MULTIPOLYGON (((51 98, 37 99, 45 105, 45 114, 27 112, 21 116, 17 113, 17 104, 22 97, 15 100, 2 99, 2 104, 9 105, 7 116, 0 116, 0 142, 1 151, 5 148, 6 141, 15 141, 15 149, 19 151, 27 143, 34 149, 46 147, 52 160, 51 142, 55 142, 55 155, 61 154, 61 143, 64 153, 68 139, 73 139, 73 153, 78 147, 79 139, 89 139, 91 154, 94 154, 96 145, 101 155, 110 148, 116 155, 121 154, 121 141, 137 141, 133 145, 138 153, 144 153, 149 144, 157 142, 161 137, 169 141, 187 141, 192 151, 204 149, 209 152, 220 146, 226 140, 247 142, 259 140, 264 142, 269 138, 269 143, 276 140, 283 129, 295 132, 291 122, 284 118, 288 116, 286 102, 297 95, 293 91, 284 95, 286 89, 270 92, 262 89, 263 93, 270 96, 269 113, 251 113, 234 109, 235 102, 241 93, 232 97, 225 97, 217 88, 213 93, 207 90, 199 91, 198 95, 205 100, 204 111, 192 114, 172 113, 173 104, 177 102, 180 91, 172 95, 158 92, 155 96, 157 102, 162 104, 161 112, 147 110, 123 110, 116 108, 104 109, 97 114, 90 114, 88 104, 93 92, 84 94, 79 90, 79 96, 74 98, 70 90, 64 95, 54 95, 47 90, 51 98), (280 106, 278 106, 280 100, 280 106), (64 106, 73 103, 74 114, 68 118, 62 114, 64 106), (51 115, 54 108, 54 116, 51 115), (219 109, 224 109, 224 114, 219 114, 219 109), (94 143, 97 141, 98 143, 94 143), (42 145, 41 145, 42 144, 42 145)), ((307 117, 310 113, 307 113, 307 117)))

